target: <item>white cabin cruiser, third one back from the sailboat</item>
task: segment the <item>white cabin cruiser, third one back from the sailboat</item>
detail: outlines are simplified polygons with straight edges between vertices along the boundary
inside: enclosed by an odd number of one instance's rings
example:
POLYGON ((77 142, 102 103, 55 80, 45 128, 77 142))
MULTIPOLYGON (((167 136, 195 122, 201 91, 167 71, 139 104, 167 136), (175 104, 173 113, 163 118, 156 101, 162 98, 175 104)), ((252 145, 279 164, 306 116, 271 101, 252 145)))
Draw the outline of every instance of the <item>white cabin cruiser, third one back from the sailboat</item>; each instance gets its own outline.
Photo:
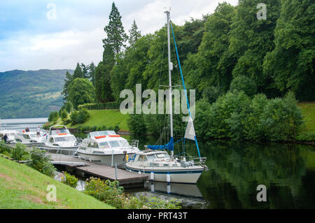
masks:
POLYGON ((12 143, 22 143, 27 146, 44 145, 45 136, 41 133, 38 137, 36 131, 23 131, 22 133, 15 134, 15 141, 12 143))

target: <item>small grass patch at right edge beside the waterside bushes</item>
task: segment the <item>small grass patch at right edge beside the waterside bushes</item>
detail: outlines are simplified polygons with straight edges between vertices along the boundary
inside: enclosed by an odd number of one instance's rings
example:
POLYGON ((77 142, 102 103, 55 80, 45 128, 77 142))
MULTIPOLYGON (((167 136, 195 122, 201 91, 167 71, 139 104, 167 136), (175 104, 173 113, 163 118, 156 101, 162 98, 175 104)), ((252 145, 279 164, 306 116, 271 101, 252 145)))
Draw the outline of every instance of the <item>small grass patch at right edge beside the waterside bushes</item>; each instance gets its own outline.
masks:
POLYGON ((304 117, 301 132, 315 132, 315 103, 299 103, 298 107, 304 117))

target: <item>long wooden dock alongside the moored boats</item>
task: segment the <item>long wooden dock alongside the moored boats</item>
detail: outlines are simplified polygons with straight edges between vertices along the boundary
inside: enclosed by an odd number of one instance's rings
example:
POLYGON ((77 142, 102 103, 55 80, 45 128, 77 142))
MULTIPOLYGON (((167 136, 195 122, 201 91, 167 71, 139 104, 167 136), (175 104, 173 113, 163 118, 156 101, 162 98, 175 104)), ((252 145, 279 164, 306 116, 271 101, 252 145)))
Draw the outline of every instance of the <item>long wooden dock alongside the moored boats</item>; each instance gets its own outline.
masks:
POLYGON ((66 166, 73 173, 84 174, 85 177, 93 176, 103 180, 118 180, 119 185, 125 188, 142 188, 148 176, 139 173, 130 173, 117 168, 117 179, 115 167, 96 164, 76 157, 66 155, 52 156, 52 164, 66 166))

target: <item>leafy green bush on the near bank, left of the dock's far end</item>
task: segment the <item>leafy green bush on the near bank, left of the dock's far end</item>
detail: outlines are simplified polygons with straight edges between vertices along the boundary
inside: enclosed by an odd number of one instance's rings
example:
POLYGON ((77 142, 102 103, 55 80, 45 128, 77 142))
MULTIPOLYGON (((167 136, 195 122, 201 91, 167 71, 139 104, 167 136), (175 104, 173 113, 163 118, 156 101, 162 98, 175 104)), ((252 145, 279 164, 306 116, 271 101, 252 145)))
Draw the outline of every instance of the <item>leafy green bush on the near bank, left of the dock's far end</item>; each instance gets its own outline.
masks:
POLYGON ((31 162, 27 165, 50 177, 55 175, 56 168, 50 163, 50 157, 47 157, 45 151, 38 148, 31 150, 31 162))

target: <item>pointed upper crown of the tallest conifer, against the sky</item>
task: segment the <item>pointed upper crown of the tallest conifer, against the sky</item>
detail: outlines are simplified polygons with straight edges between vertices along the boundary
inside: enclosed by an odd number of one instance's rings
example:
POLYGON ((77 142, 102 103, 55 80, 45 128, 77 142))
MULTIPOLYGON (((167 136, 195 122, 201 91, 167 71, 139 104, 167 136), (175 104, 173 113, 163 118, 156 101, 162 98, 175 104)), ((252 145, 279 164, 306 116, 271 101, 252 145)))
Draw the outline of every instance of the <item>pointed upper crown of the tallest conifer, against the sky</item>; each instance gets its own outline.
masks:
POLYGON ((127 34, 121 22, 121 16, 118 8, 113 5, 111 7, 111 14, 109 15, 109 24, 104 28, 107 34, 107 38, 104 38, 104 49, 111 48, 115 55, 117 55, 122 47, 125 47, 125 41, 127 41, 127 34))

